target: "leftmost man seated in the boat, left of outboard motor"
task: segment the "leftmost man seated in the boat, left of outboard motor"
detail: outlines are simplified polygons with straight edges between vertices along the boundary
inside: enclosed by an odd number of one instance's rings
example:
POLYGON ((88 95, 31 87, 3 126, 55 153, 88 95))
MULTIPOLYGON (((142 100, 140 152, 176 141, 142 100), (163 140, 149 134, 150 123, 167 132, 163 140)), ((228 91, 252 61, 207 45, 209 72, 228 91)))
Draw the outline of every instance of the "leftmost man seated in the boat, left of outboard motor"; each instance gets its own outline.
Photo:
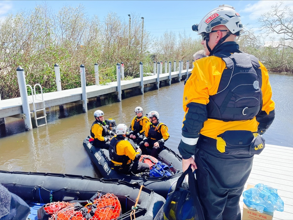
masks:
POLYGON ((98 148, 109 149, 111 136, 114 136, 114 132, 108 130, 108 126, 104 121, 104 112, 96 110, 94 112, 96 121, 92 124, 91 136, 89 142, 98 148))

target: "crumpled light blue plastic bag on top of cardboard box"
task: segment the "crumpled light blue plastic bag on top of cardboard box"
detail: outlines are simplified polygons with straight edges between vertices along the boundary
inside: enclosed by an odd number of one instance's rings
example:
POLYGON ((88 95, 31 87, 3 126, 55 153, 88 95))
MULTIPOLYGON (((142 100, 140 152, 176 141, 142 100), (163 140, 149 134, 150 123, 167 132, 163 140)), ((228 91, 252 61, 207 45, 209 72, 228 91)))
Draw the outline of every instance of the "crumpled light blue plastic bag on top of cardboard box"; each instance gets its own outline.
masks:
POLYGON ((277 193, 277 189, 259 183, 254 188, 243 192, 243 202, 262 213, 263 211, 273 212, 284 211, 284 202, 277 193))

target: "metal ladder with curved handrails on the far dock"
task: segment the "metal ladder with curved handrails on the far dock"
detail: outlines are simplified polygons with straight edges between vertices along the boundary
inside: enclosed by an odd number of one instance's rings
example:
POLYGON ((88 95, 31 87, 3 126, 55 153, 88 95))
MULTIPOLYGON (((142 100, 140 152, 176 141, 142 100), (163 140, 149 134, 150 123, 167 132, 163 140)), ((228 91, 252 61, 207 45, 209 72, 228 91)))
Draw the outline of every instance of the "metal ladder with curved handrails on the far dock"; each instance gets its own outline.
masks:
POLYGON ((44 101, 44 98, 43 98, 43 89, 42 89, 42 86, 38 83, 36 83, 34 85, 34 87, 32 88, 31 85, 26 85, 27 87, 30 87, 31 88, 31 92, 32 92, 32 98, 33 100, 31 100, 32 104, 33 104, 33 111, 31 111, 31 116, 35 118, 35 125, 38 127, 38 126, 42 126, 42 125, 45 125, 47 124, 47 115, 46 115, 46 107, 45 107, 45 101, 44 101), (41 89, 41 99, 40 97, 38 96, 37 97, 37 94, 35 92, 35 87, 36 86, 39 86, 40 89, 41 89), (35 96, 35 98, 34 98, 35 96), (42 109, 38 109, 38 104, 41 103, 42 104, 42 109), (37 105, 37 106, 36 106, 37 105), (37 117, 37 112, 39 111, 43 111, 43 115, 40 116, 40 117, 37 117), (38 119, 45 119, 45 123, 42 124, 42 125, 38 125, 38 119))

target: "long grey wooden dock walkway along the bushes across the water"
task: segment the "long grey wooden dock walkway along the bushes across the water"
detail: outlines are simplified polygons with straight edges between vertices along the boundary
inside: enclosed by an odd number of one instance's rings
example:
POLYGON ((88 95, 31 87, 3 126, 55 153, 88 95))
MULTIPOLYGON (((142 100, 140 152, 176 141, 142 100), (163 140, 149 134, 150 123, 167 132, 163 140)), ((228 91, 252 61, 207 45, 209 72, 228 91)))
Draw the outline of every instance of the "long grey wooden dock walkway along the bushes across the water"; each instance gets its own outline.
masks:
MULTIPOLYGON (((192 69, 188 70, 188 73, 192 69)), ((181 76, 186 76, 186 70, 183 70, 181 76)), ((171 72, 171 78, 178 77, 178 72, 171 72)), ((169 73, 160 74, 160 81, 169 79, 169 73)), ((143 77, 143 84, 152 84, 157 82, 157 75, 143 77)), ((131 80, 121 80, 121 90, 140 87, 140 78, 131 80)), ((93 85, 86 87, 87 98, 97 97, 104 94, 117 92, 117 82, 110 82, 107 85, 93 85)), ((40 97, 40 95, 37 95, 40 97)), ((28 96, 32 100, 31 96, 28 96)), ((82 100, 82 88, 66 89, 58 92, 43 93, 46 108, 56 105, 62 105, 69 102, 82 100)), ((30 101, 30 109, 33 110, 33 104, 30 101)), ((16 116, 23 114, 21 97, 13 99, 0 100, 0 118, 16 116)))

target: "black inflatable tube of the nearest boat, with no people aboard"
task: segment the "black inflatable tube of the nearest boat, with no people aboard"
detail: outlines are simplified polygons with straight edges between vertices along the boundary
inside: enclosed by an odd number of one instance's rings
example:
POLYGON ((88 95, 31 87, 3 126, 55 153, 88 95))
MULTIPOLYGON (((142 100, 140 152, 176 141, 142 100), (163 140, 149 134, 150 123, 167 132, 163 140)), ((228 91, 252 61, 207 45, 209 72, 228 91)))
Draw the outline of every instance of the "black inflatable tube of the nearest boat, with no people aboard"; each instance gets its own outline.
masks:
MULTIPOLYGON (((28 204, 49 203, 50 191, 54 202, 88 200, 96 192, 113 193, 118 197, 122 208, 119 219, 130 219, 131 208, 135 205, 140 190, 139 184, 118 179, 55 173, 0 171, 0 183, 28 204)), ((143 187, 137 204, 139 208, 135 212, 136 219, 154 219, 164 202, 162 196, 143 187)))

